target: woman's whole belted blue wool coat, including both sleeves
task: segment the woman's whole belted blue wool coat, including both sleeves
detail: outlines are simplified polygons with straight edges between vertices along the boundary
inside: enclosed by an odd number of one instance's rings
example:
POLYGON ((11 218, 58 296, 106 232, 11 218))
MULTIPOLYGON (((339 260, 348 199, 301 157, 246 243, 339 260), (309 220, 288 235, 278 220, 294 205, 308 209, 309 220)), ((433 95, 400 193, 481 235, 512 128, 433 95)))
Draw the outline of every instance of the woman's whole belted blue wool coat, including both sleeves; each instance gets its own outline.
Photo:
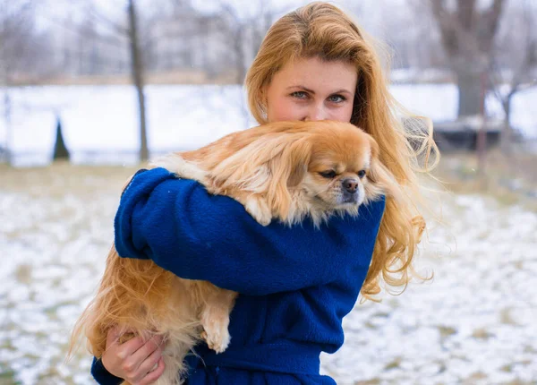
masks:
MULTIPOLYGON (((122 257, 155 261, 177 276, 239 292, 231 344, 214 354, 196 348, 188 384, 334 384, 320 376, 320 353, 343 345, 343 317, 371 263, 385 201, 356 218, 260 226, 243 206, 209 195, 200 184, 163 168, 139 172, 115 216, 122 257)), ((101 384, 118 379, 94 360, 101 384)))

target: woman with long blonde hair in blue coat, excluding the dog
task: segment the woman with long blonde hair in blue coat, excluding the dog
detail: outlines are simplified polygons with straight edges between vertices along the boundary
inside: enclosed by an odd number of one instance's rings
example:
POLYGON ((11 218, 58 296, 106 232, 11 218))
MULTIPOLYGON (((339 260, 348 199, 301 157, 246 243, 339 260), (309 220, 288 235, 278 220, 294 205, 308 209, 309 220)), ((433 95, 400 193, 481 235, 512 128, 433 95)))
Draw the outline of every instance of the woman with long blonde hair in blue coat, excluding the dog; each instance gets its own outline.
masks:
MULTIPOLYGON (((380 159, 409 197, 362 207, 358 218, 334 218, 315 230, 260 227, 237 202, 209 196, 200 184, 163 169, 139 173, 125 190, 115 218, 115 246, 128 258, 151 258, 182 278, 209 280, 239 292, 222 355, 205 346, 192 358, 189 384, 335 383, 320 376, 320 352, 343 344, 342 319, 361 292, 405 286, 424 222, 415 211, 422 140, 396 119, 379 56, 364 33, 331 4, 312 3, 268 30, 246 78, 253 116, 282 120, 351 122, 379 143, 380 159), (372 255, 372 257, 371 257, 372 255)), ((133 338, 107 352, 92 373, 103 384, 126 379, 149 384, 164 371, 160 339, 133 338), (105 369, 106 368, 106 369, 105 369), (113 375, 115 374, 115 376, 113 375)))

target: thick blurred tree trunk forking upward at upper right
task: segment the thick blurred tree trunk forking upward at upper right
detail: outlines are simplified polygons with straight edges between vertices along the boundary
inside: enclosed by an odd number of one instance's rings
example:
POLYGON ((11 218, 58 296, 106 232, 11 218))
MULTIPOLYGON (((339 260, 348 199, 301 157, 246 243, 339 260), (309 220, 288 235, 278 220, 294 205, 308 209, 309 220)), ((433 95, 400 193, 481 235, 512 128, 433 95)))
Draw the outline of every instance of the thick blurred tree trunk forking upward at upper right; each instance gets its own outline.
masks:
POLYGON ((458 116, 480 115, 481 79, 490 68, 493 41, 505 0, 493 0, 484 10, 477 0, 429 1, 449 66, 456 73, 458 116))

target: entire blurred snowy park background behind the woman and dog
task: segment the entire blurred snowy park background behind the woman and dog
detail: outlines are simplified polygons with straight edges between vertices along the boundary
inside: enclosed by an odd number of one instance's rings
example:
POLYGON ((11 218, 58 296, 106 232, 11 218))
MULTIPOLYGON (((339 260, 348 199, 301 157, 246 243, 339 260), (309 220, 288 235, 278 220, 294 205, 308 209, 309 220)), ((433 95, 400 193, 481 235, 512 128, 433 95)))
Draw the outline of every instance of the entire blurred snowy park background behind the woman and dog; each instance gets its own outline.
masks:
MULTIPOLYGON (((299 0, 0 0, 0 384, 92 383, 67 339, 149 158, 254 125, 244 75, 299 0)), ((416 266, 345 318, 338 384, 537 383, 537 1, 338 0, 429 116, 416 266), (533 282, 533 284, 531 284, 533 282)))

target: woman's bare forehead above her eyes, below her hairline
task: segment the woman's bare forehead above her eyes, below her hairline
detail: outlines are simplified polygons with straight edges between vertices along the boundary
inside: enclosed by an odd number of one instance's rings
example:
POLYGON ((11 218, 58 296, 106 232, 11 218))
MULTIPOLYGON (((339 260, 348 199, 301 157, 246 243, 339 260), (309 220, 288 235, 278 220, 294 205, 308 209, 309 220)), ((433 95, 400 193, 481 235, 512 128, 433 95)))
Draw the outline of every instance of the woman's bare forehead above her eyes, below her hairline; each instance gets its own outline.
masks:
POLYGON ((287 63, 274 75, 271 85, 277 88, 303 86, 316 92, 354 91, 357 79, 358 73, 354 64, 309 57, 287 63))

